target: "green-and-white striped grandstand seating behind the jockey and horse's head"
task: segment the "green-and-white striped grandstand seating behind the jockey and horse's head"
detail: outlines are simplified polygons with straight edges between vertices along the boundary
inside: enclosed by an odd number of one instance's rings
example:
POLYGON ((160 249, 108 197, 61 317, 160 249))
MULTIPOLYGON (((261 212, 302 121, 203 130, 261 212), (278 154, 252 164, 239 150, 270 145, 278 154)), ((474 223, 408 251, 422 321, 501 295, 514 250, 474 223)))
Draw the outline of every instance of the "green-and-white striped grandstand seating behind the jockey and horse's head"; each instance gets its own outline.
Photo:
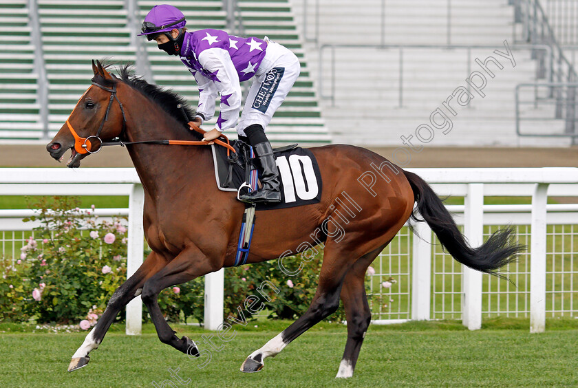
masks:
MULTIPOLYGON (((158 1, 137 3, 142 20, 158 1)), ((111 58, 114 63, 131 64, 136 61, 127 1, 36 0, 36 4, 41 34, 39 52, 31 40, 28 0, 0 0, 0 34, 9 37, 0 45, 0 139, 43 137, 38 90, 41 81, 34 67, 37 56, 41 55, 46 70, 49 136, 61 128, 78 97, 90 85, 92 59, 111 58)), ((226 29, 222 0, 175 0, 171 4, 184 12, 190 30, 226 29)), ((268 128, 271 140, 330 142, 288 1, 239 1, 239 8, 244 35, 269 36, 301 59, 301 76, 268 128)), ((160 52, 154 43, 140 39, 146 45, 153 81, 175 89, 196 106, 197 86, 186 68, 160 52)), ((216 117, 207 126, 215 120, 216 117)))

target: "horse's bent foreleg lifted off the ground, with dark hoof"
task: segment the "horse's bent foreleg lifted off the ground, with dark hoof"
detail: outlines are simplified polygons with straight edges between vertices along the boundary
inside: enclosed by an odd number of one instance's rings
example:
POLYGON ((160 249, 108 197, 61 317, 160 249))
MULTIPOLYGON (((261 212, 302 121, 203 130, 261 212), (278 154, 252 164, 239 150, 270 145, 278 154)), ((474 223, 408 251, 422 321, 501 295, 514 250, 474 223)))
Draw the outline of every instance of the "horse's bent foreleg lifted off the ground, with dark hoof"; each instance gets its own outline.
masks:
POLYGON ((144 283, 141 298, 149 309, 151 320, 162 343, 171 345, 185 354, 199 356, 197 345, 190 338, 186 336, 178 338, 178 336, 175 336, 175 332, 162 316, 157 299, 158 294, 164 288, 185 283, 213 270, 215 268, 211 266, 210 261, 196 247, 187 248, 144 283))

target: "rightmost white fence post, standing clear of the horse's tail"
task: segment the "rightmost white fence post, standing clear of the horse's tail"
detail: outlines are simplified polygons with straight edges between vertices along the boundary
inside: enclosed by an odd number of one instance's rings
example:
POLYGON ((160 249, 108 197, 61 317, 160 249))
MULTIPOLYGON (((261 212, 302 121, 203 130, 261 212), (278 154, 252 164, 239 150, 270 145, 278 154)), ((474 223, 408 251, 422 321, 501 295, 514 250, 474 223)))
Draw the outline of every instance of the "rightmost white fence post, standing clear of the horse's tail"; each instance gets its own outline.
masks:
POLYGON ((546 328, 546 202, 548 184, 536 184, 532 195, 530 244, 530 332, 546 328))

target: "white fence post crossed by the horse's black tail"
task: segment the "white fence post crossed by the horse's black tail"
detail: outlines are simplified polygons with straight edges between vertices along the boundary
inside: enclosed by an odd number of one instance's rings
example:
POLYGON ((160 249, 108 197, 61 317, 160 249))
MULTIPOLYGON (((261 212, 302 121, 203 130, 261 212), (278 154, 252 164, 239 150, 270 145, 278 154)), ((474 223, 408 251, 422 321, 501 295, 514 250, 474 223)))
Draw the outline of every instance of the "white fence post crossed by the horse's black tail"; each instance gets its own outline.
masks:
MULTIPOLYGON (((484 184, 468 184, 464 204, 464 235, 476 248, 484 240, 484 184)), ((462 266, 462 323, 469 330, 482 328, 482 272, 467 266, 462 266)))

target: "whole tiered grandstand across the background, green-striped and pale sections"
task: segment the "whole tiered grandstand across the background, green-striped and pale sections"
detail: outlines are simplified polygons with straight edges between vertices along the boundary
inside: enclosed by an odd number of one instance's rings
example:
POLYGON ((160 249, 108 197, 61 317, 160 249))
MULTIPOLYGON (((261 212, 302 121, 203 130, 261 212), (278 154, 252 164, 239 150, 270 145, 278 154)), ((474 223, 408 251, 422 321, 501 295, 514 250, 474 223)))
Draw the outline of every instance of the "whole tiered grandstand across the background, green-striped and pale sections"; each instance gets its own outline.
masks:
MULTIPOLYGON (((9 38, 0 47, 0 139, 52 137, 89 85, 93 58, 134 64, 138 74, 195 106, 197 87, 186 68, 136 37, 157 3, 0 0, 0 31, 9 38)), ((475 58, 495 57, 507 41, 515 67, 498 56, 504 69, 488 77, 485 96, 456 110, 451 131, 437 133, 427 145, 572 143, 566 135, 575 133, 574 87, 520 87, 515 96, 521 84, 575 80, 564 56, 567 51, 570 60, 575 57, 578 46, 569 32, 575 23, 559 16, 564 12, 554 1, 358 0, 355 8, 348 0, 168 3, 184 12, 190 30, 269 36, 299 56, 301 76, 268 128, 272 142, 401 146, 400 136, 428 123, 452 91, 480 70, 475 58), (517 126, 548 136, 521 137, 517 126)), ((207 126, 217 115, 218 106, 207 126)))

